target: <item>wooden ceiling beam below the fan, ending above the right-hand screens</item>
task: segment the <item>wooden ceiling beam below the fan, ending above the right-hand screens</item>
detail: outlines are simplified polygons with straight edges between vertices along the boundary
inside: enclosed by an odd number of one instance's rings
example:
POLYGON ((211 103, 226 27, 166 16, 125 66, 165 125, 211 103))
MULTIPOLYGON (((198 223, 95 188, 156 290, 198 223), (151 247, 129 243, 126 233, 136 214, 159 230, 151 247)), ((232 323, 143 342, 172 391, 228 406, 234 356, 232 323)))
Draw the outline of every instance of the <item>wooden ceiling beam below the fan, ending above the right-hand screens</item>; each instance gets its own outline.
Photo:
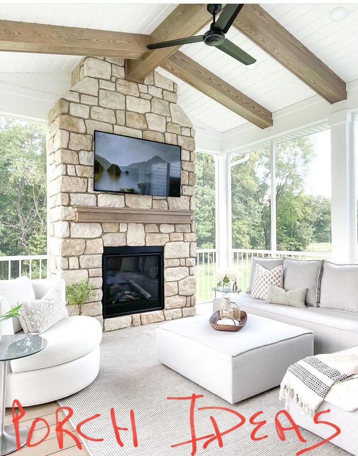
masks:
POLYGON ((270 111, 180 51, 162 62, 161 67, 258 127, 272 126, 270 111))

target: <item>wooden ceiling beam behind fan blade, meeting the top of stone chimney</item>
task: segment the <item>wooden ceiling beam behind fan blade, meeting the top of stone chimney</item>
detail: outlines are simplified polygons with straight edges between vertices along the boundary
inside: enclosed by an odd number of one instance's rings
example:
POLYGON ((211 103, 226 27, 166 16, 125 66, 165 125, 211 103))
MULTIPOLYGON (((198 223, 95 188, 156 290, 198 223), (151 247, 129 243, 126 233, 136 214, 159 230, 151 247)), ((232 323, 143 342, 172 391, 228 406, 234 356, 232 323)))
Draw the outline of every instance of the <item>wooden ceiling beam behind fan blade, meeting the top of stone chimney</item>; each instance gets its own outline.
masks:
MULTIPOLYGON (((206 4, 179 4, 151 34, 151 43, 196 35, 211 22, 212 16, 206 4)), ((135 82, 143 82, 145 76, 157 67, 180 46, 148 51, 141 60, 126 62, 126 77, 135 82)))

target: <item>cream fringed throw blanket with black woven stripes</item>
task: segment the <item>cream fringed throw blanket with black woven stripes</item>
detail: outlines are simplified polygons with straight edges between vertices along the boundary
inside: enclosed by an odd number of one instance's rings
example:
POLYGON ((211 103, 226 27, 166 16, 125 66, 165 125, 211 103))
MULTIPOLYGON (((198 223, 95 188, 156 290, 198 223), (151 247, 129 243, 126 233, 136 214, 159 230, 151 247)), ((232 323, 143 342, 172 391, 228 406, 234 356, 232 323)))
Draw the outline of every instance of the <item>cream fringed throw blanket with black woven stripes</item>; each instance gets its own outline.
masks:
POLYGON ((307 356, 287 369, 281 382, 280 400, 296 403, 314 416, 330 387, 358 376, 358 346, 336 353, 307 356))

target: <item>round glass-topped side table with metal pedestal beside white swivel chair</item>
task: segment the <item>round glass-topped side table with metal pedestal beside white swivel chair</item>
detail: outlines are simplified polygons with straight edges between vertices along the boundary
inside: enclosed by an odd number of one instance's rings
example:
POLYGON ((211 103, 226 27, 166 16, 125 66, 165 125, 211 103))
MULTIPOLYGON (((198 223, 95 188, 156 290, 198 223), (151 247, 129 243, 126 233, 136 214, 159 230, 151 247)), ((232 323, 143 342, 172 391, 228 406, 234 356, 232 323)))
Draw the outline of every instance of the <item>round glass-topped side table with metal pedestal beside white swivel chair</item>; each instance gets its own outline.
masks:
MULTIPOLYGON (((10 360, 24 358, 43 350, 46 339, 31 334, 3 335, 0 339, 0 456, 17 451, 15 429, 13 425, 4 426, 6 404, 6 373, 10 360)), ((26 387, 26 385, 24 385, 26 387)), ((29 433, 27 427, 19 427, 21 446, 25 445, 29 433)))

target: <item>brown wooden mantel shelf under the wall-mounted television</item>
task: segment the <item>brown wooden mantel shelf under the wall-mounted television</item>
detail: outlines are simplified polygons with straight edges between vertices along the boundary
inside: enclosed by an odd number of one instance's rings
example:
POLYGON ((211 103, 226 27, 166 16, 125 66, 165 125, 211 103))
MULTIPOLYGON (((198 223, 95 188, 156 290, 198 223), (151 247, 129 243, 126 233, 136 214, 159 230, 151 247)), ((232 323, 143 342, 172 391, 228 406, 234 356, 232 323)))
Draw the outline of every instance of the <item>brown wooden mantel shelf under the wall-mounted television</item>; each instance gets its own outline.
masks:
POLYGON ((129 209, 74 206, 76 222, 191 223, 192 210, 129 209))

